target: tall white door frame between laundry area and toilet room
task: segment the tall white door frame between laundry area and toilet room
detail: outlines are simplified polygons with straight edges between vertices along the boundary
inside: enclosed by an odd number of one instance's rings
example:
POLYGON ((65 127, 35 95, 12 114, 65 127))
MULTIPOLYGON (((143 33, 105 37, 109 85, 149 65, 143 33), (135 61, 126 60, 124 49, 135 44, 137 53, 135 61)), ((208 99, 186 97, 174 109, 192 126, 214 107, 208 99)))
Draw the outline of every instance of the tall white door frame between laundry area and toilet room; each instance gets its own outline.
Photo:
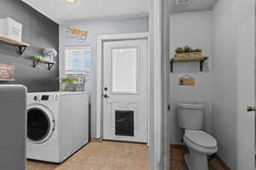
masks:
POLYGON ((150 99, 150 170, 170 169, 168 138, 169 101, 169 14, 171 1, 148 0, 150 30, 150 65, 153 79, 150 99), (167 84, 166 84, 167 83, 167 84), (168 94, 166 94, 168 93, 168 94))

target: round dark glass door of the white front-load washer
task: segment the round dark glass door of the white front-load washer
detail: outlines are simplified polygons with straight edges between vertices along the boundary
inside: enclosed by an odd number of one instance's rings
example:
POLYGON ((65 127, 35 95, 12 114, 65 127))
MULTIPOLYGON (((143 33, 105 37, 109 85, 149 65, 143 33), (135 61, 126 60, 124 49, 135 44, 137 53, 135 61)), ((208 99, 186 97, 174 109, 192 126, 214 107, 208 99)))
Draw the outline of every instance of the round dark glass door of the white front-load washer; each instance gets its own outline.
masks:
POLYGON ((27 110, 27 139, 32 143, 44 143, 55 130, 55 119, 42 105, 34 105, 27 110))

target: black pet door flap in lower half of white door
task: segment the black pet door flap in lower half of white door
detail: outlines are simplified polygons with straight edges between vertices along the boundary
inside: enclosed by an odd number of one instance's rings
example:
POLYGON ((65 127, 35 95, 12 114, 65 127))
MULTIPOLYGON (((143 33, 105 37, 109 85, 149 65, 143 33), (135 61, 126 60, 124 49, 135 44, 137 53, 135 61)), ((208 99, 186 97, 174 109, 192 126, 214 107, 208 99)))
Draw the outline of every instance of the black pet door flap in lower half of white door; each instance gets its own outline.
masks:
POLYGON ((134 136, 134 111, 115 111, 115 135, 134 136))

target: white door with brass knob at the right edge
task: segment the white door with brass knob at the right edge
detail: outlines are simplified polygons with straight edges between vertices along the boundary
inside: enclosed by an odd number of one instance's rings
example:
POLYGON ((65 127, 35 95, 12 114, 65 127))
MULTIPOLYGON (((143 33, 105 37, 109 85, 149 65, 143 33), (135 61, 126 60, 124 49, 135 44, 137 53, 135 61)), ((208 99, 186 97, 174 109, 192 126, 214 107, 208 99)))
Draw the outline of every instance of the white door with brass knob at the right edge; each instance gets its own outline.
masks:
MULTIPOLYGON (((237 25, 236 53, 237 53, 237 170, 255 169, 255 109, 254 82, 254 1, 237 3, 241 11, 242 20, 237 25), (244 58, 246 56, 246 59, 244 58)), ((235 12, 234 12, 235 13, 235 12)))

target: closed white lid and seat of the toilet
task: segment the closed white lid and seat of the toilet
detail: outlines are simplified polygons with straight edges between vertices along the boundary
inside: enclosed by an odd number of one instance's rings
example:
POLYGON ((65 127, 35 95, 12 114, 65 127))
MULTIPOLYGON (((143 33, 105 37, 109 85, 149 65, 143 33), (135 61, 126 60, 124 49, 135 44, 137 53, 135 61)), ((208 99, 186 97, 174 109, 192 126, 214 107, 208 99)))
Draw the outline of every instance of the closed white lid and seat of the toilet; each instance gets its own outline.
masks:
POLYGON ((189 141, 201 145, 202 147, 213 148, 217 146, 217 141, 210 134, 199 130, 186 130, 185 137, 189 141))

